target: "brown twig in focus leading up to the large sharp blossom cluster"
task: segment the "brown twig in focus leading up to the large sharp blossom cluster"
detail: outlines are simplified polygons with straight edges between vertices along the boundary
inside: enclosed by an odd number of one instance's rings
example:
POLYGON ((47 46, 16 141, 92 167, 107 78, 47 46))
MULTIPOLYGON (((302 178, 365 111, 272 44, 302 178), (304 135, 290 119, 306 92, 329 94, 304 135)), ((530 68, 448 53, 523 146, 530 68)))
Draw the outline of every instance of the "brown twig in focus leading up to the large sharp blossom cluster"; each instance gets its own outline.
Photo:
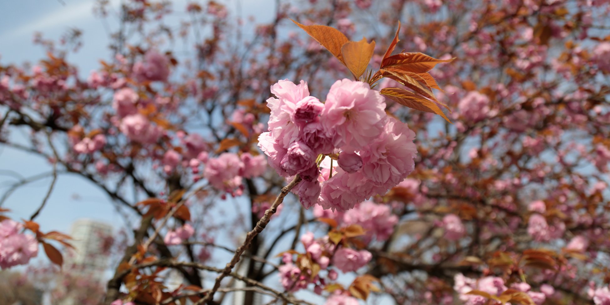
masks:
POLYGON ((265 229, 265 227, 267 226, 267 224, 269 223, 269 221, 271 219, 271 215, 273 215, 278 210, 279 205, 282 203, 282 201, 284 201, 284 197, 286 197, 286 195, 290 192, 290 190, 293 187, 295 187, 299 182, 301 182, 301 176, 296 175, 296 177, 292 180, 292 182, 290 182, 287 186, 284 186, 284 188, 282 188, 282 191, 279 193, 278 197, 273 202, 273 205, 271 205, 271 207, 267 211, 265 211, 265 215, 263 216, 263 218, 261 218, 259 220, 259 222, 256 223, 256 227, 254 227, 253 230, 248 232, 248 235, 246 235, 246 240, 243 242, 243 244, 239 248, 237 248, 237 251, 235 251, 235 255, 233 255, 233 259, 231 259, 231 262, 227 263, 227 265, 224 267, 222 273, 220 273, 218 275, 218 277, 216 277, 216 281, 214 283, 214 286, 212 287, 212 291, 210 291, 210 293, 208 293, 203 299, 200 299, 199 301, 197 301, 197 303, 195 303, 195 305, 205 304, 208 301, 213 299, 214 293, 216 293, 218 288, 220 288, 220 281, 222 281, 224 279, 224 277, 228 276, 229 273, 231 273, 231 270, 233 270, 235 265, 239 262, 240 258, 242 257, 243 251, 245 251, 246 248, 248 248, 248 246, 250 245, 250 243, 254 239, 254 237, 256 237, 256 235, 259 235, 259 233, 265 229))

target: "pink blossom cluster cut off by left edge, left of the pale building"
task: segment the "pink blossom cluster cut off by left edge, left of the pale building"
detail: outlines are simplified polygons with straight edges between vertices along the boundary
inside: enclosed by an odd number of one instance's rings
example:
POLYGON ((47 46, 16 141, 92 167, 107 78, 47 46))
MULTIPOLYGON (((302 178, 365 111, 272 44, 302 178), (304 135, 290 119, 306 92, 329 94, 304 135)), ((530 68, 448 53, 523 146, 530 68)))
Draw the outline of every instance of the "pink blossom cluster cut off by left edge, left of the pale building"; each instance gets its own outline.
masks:
POLYGON ((0 222, 0 268, 25 265, 38 255, 36 237, 22 230, 23 226, 12 219, 0 222))

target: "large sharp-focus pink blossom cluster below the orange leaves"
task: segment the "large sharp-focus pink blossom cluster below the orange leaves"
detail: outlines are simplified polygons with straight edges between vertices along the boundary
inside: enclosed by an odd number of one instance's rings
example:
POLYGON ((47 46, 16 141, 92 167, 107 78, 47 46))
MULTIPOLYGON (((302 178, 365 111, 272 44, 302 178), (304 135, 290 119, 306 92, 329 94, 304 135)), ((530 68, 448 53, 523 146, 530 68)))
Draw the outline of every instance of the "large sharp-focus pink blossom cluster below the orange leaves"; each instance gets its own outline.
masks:
POLYGON ((413 171, 415 133, 386 115, 384 97, 367 83, 336 81, 325 103, 309 95, 304 81, 278 81, 271 93, 269 131, 260 134, 259 147, 278 174, 301 175, 295 193, 305 208, 350 210, 413 171), (319 164, 323 155, 337 160, 329 161, 328 174, 319 164))

